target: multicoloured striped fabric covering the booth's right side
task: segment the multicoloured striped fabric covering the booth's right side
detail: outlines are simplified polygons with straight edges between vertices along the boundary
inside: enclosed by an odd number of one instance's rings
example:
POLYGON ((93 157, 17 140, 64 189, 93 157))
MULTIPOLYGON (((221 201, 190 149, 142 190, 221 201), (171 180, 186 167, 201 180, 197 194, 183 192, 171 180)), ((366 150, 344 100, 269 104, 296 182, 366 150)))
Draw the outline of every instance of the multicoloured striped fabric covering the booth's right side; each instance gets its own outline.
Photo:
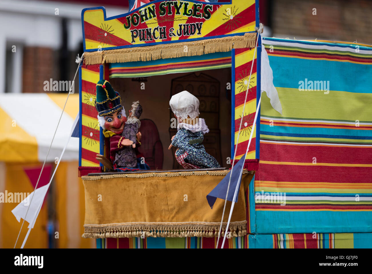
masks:
POLYGON ((368 232, 372 48, 275 38, 263 44, 283 114, 263 93, 256 232, 368 232))

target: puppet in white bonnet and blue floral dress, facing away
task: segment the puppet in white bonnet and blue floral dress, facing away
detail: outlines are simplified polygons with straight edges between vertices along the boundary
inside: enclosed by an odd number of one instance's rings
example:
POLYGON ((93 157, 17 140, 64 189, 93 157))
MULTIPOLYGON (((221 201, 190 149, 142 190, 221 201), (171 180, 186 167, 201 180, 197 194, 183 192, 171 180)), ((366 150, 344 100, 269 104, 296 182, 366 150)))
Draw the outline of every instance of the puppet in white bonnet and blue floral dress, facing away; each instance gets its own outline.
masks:
POLYGON ((177 134, 171 145, 177 147, 176 160, 184 169, 205 169, 221 167, 209 155, 202 144, 204 134, 209 132, 204 119, 199 118, 199 100, 188 91, 173 95, 169 105, 179 122, 177 134))

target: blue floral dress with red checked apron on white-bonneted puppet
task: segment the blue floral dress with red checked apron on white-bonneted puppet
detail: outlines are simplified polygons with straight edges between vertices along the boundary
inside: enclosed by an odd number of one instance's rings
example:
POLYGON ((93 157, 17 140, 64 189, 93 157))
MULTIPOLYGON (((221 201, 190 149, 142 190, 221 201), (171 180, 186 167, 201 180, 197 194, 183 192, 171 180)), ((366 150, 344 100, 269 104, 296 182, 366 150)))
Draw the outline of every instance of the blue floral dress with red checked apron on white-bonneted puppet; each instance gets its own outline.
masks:
POLYGON ((184 169, 221 167, 217 160, 205 151, 202 144, 203 139, 204 135, 201 131, 191 132, 185 128, 180 128, 177 131, 171 144, 178 147, 176 160, 184 169))

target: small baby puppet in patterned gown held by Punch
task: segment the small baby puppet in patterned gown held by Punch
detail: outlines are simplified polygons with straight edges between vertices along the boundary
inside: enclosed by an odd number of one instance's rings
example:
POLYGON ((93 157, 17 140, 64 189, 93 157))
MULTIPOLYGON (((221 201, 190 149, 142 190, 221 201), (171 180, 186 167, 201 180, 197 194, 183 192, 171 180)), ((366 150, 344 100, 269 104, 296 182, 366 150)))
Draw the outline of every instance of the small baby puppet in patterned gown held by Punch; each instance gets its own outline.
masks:
POLYGON ((115 163, 121 167, 137 167, 137 156, 135 152, 136 134, 140 129, 140 116, 142 114, 142 106, 140 102, 133 102, 132 109, 129 110, 128 118, 124 125, 122 133, 123 139, 129 139, 133 142, 131 146, 124 147, 122 150, 116 152, 115 163))

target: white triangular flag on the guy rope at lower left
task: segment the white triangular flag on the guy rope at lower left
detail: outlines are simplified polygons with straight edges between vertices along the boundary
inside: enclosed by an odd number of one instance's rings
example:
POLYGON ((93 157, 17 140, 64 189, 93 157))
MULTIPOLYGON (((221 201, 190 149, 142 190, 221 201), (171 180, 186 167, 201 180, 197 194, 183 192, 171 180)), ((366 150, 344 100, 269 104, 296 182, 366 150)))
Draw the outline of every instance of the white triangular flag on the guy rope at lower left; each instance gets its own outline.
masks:
POLYGON ((49 185, 50 182, 45 186, 37 188, 35 191, 31 192, 30 195, 27 196, 22 202, 20 202, 15 208, 13 208, 12 213, 16 217, 18 222, 20 222, 21 218, 25 219, 25 221, 29 223, 28 228, 33 228, 33 226, 35 225, 36 217, 39 215, 39 211, 41 209, 41 205, 44 201, 45 195, 47 195, 49 185), (32 198, 34 192, 35 197, 32 198), (30 203, 31 207, 27 212, 30 203))

